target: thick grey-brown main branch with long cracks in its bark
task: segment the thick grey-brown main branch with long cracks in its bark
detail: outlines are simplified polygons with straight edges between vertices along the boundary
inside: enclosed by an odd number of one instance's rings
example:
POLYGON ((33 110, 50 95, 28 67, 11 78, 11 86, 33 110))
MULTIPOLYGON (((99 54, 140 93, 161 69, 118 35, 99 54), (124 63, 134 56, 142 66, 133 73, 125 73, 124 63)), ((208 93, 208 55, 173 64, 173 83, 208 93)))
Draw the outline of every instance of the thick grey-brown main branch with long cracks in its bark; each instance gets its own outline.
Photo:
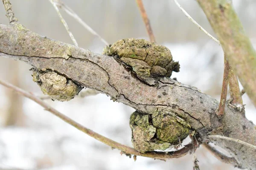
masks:
POLYGON ((230 152, 238 167, 256 169, 255 150, 235 142, 207 138, 207 135, 224 135, 256 145, 256 127, 228 103, 225 114, 216 116, 218 101, 196 88, 168 78, 160 78, 155 86, 146 85, 113 57, 51 40, 18 23, 0 24, 0 56, 55 71, 143 113, 159 108, 173 111, 197 131, 200 142, 214 142, 230 152))

